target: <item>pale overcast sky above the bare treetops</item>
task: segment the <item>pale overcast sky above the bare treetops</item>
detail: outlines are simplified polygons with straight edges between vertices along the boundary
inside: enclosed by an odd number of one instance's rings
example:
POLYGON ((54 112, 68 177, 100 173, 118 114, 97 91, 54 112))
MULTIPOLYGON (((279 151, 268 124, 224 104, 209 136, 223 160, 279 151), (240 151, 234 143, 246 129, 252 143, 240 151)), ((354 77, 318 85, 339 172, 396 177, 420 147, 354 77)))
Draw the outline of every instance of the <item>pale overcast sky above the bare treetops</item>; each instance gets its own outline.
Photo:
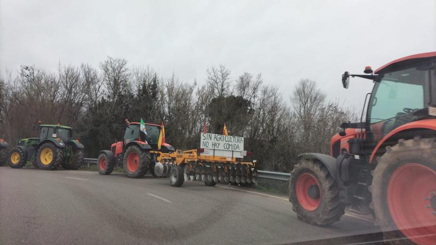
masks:
POLYGON ((345 70, 435 50, 436 0, 0 0, 3 74, 21 64, 55 71, 59 61, 97 67, 109 55, 203 83, 223 63, 232 79, 262 73, 286 98, 298 80, 316 80, 360 110, 372 83, 352 79, 345 90, 345 70))

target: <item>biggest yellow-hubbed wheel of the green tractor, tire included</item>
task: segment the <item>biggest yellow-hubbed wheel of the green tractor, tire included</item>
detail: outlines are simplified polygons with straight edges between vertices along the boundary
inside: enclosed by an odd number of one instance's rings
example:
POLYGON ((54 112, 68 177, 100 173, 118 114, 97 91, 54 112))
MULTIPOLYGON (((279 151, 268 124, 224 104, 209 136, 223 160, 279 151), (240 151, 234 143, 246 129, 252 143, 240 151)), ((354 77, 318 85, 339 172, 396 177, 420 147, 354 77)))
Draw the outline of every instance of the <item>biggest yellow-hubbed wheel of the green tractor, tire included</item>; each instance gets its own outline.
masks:
POLYGON ((62 163, 63 151, 53 143, 47 142, 38 147, 36 162, 40 169, 54 170, 62 163))

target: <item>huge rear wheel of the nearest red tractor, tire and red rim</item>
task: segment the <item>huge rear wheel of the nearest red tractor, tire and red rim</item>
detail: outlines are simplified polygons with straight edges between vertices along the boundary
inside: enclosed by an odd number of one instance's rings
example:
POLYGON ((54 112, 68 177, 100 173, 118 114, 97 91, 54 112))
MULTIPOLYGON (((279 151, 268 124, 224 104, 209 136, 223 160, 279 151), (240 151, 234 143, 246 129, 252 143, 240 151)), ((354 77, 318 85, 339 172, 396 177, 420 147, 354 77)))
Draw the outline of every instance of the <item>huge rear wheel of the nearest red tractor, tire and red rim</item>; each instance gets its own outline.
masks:
POLYGON ((379 158, 371 186, 376 223, 388 240, 436 241, 435 139, 400 140, 379 158))

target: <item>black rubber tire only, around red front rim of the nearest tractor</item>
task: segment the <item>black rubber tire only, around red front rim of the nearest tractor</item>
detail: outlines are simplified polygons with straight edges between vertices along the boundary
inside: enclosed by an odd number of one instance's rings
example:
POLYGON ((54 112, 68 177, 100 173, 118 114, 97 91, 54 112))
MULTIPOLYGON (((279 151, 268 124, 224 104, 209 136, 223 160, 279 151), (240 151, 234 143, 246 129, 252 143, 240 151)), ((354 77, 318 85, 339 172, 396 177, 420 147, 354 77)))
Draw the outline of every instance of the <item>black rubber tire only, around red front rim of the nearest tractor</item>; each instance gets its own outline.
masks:
POLYGON ((345 209, 345 206, 339 202, 336 180, 331 177, 327 167, 315 159, 302 159, 294 166, 289 181, 289 201, 297 217, 313 225, 329 225, 339 221, 345 209), (304 209, 296 196, 295 185, 298 177, 303 173, 314 176, 320 185, 321 202, 314 211, 304 209))

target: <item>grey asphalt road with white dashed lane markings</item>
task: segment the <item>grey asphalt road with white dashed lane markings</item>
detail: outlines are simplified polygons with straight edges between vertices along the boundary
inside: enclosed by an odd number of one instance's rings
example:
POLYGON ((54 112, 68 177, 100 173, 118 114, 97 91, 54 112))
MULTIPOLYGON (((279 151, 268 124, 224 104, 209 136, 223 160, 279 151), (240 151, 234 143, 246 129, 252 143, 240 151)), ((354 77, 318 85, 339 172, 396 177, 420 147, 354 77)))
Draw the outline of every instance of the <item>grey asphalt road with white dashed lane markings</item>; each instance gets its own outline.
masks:
POLYGON ((349 215, 312 226, 286 196, 253 190, 0 167, 0 244, 287 244, 378 231, 349 215))

